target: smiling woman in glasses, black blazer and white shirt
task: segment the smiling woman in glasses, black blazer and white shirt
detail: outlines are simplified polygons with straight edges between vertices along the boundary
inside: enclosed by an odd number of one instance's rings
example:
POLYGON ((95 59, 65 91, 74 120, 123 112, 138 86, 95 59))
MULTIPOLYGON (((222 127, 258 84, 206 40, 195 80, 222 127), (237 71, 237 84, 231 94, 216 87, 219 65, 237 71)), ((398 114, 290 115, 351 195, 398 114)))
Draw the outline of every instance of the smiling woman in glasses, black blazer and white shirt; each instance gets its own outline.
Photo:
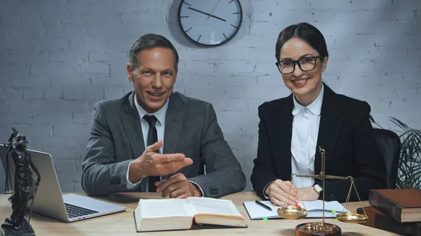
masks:
MULTIPOLYGON (((328 201, 345 202, 348 180, 326 180, 324 189, 319 179, 295 177, 290 182, 291 174, 319 174, 319 147, 326 150, 326 174, 352 176, 361 200, 368 199, 371 188, 386 188, 385 161, 368 119, 370 106, 336 94, 321 81, 328 50, 319 29, 307 23, 283 29, 276 60, 292 94, 259 106, 258 157, 251 175, 256 193, 279 206, 321 199, 321 191, 328 201)), ((354 190, 350 200, 358 200, 354 190)))

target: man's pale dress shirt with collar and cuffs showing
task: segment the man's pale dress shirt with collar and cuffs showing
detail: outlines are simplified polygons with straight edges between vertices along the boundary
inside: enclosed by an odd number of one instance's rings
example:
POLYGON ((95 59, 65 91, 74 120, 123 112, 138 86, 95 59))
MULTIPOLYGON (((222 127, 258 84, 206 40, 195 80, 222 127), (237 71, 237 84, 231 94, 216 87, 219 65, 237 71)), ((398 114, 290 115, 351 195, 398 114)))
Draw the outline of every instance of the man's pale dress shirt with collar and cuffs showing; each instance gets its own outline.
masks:
MULTIPOLYGON (((138 99, 136 99, 136 95, 133 96, 135 97, 135 106, 136 109, 138 109, 138 113, 139 113, 139 118, 140 118, 140 125, 142 125, 142 135, 143 135, 143 141, 145 142, 145 149, 147 148, 147 133, 149 131, 149 123, 147 123, 147 121, 143 118, 144 116, 148 115, 148 116, 155 116, 156 117, 156 134, 158 134, 158 140, 162 141, 162 146, 161 148, 159 148, 159 153, 163 153, 163 137, 165 134, 165 118, 166 118, 166 112, 168 110, 168 102, 170 101, 170 99, 167 100, 167 102, 161 107, 161 109, 159 109, 158 111, 156 111, 155 113, 147 113, 145 111, 145 109, 142 108, 142 106, 140 106, 138 104, 138 99)), ((131 161, 133 162, 133 160, 131 161)), ((131 181, 128 180, 128 170, 130 169, 130 165, 131 162, 128 164, 128 168, 127 168, 127 174, 126 174, 126 186, 127 188, 136 188, 139 186, 139 184, 142 182, 143 179, 141 179, 140 181, 136 182, 136 183, 131 183, 131 181)), ((162 180, 162 176, 161 176, 161 180, 162 180)), ((201 189, 201 187, 199 186, 199 184, 195 183, 194 181, 189 180, 189 182, 194 183, 196 186, 199 187, 199 190, 201 190, 201 194, 203 195, 203 190, 201 189)), ((149 192, 149 184, 146 185, 146 191, 149 192)))

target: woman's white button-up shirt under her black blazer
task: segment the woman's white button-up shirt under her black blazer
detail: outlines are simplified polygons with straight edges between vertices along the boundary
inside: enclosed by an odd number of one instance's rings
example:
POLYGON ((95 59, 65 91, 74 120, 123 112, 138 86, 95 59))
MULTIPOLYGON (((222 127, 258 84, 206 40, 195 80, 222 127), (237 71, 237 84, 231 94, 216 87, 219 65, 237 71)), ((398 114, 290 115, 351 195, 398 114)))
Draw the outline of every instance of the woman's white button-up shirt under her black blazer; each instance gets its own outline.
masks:
MULTIPOLYGON (((293 96, 292 174, 314 174, 314 157, 319 134, 323 93, 322 83, 319 96, 308 106, 302 106, 293 96)), ((293 183, 297 188, 304 188, 313 186, 314 179, 294 176, 293 183)))

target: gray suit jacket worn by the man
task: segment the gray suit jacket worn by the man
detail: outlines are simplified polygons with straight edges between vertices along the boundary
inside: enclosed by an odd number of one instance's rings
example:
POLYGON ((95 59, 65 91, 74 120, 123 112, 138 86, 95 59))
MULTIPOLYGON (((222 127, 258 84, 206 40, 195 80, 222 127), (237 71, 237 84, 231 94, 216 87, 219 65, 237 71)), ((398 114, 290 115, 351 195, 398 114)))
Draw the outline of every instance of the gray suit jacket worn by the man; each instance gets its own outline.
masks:
MULTIPOLYGON (((82 163, 82 188, 88 195, 146 190, 147 181, 135 189, 126 187, 129 162, 145 151, 133 97, 134 92, 129 92, 93 108, 91 137, 82 163)), ((174 92, 165 124, 163 153, 192 158, 193 164, 178 172, 199 184, 206 197, 222 197, 245 188, 246 177, 223 137, 212 104, 174 92), (199 175, 199 162, 206 165, 206 175, 199 175)))

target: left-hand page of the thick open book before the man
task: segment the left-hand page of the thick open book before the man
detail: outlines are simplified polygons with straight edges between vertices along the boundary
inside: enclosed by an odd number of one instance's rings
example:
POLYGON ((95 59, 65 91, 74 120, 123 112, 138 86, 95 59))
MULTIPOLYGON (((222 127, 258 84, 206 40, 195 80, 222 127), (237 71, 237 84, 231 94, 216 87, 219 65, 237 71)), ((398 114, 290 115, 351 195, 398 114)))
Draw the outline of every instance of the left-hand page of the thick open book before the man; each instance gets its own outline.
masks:
POLYGON ((185 199, 139 200, 142 218, 162 218, 171 216, 193 216, 185 199))

